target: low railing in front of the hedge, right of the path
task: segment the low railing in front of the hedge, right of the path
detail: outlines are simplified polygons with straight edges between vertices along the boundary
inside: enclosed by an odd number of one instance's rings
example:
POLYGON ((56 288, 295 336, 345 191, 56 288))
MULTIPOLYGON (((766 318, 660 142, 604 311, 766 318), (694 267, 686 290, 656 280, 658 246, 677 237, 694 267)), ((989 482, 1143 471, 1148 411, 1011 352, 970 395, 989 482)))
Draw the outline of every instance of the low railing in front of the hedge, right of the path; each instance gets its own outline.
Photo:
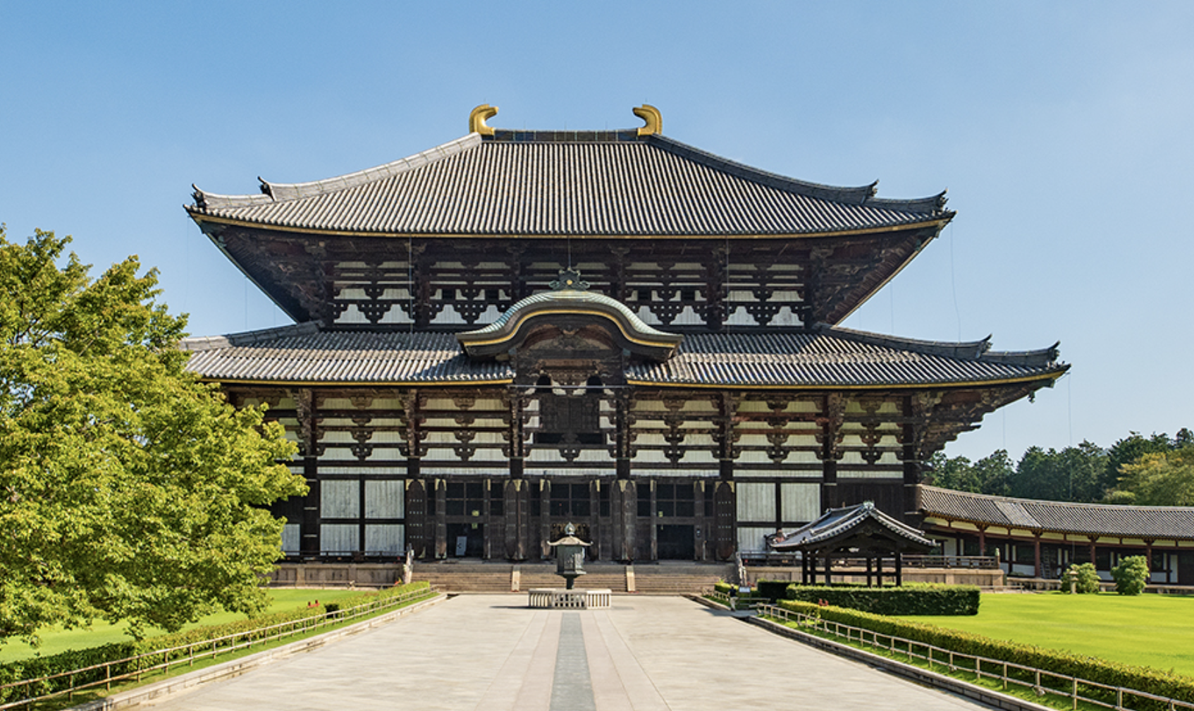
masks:
POLYGON ((847 644, 857 644, 858 646, 870 646, 884 650, 888 654, 888 656, 896 658, 897 661, 903 656, 907 658, 910 663, 915 660, 924 662, 928 664, 930 672, 934 669, 934 666, 938 666, 941 668, 949 669, 949 672, 955 674, 959 672, 967 675, 973 674, 977 681, 981 681, 984 679, 997 681, 1004 689, 1011 685, 1030 689, 1038 697, 1053 695, 1057 698, 1069 699, 1072 709, 1077 709, 1078 704, 1083 703, 1103 709, 1114 709, 1115 711, 1130 711, 1132 709, 1140 707, 1126 705, 1133 698, 1161 704, 1169 711, 1176 711, 1177 709, 1194 709, 1194 704, 1178 699, 1161 697, 1134 688, 1100 684, 1097 681, 1090 681, 1078 676, 1057 674, 1047 669, 1026 667, 1015 662, 967 655, 941 646, 925 644, 923 642, 906 639, 904 637, 880 635, 879 632, 874 632, 864 627, 854 627, 842 623, 825 620, 818 615, 792 612, 790 609, 777 607, 775 605, 759 605, 757 609, 759 617, 789 623, 794 621, 806 630, 813 630, 831 637, 845 639, 847 644))

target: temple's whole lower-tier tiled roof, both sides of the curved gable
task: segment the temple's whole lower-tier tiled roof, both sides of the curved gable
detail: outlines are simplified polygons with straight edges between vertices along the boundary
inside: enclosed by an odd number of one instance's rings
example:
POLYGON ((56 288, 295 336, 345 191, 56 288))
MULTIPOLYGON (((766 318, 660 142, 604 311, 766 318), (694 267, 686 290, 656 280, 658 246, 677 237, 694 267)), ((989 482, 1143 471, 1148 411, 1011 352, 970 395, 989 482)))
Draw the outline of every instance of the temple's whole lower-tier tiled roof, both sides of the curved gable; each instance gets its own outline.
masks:
MULTIPOLYGON (((1001 362, 983 344, 937 344, 845 329, 684 337, 663 363, 635 364, 632 382, 660 385, 881 387, 1045 379, 1067 366, 1057 351, 1001 362)), ((187 368, 223 381, 476 382, 509 380, 505 363, 469 360, 454 333, 321 331, 314 324, 187 338, 187 368)))

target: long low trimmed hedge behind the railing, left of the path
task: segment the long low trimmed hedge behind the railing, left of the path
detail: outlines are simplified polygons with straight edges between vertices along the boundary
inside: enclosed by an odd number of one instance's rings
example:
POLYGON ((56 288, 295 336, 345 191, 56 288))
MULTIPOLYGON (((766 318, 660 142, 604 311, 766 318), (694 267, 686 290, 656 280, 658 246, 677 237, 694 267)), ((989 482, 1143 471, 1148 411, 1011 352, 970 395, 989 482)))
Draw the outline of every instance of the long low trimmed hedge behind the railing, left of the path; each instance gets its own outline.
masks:
MULTIPOLYGON (((408 586, 394 586, 387 588, 378 593, 362 593, 361 595, 352 595, 350 597, 344 597, 343 600, 336 602, 340 609, 347 609, 357 605, 363 605, 373 600, 384 600, 387 597, 394 597, 410 593, 413 590, 419 590, 423 588, 430 588, 430 583, 426 581, 414 582, 408 586)), ((430 593, 430 590, 427 590, 430 593)), ((111 644, 104 644, 100 646, 93 646, 90 649, 78 649, 68 650, 56 655, 50 655, 45 657, 36 656, 25 660, 17 660, 5 664, 0 664, 0 685, 11 684, 13 681, 21 681, 25 679, 39 679, 42 676, 50 676, 53 674, 60 674, 63 672, 72 672, 74 669, 82 669, 85 667, 93 667, 96 664, 103 664, 105 662, 111 662, 116 660, 124 660, 128 657, 134 657, 137 655, 152 654, 162 649, 171 649, 176 646, 184 646, 186 644, 193 644, 198 642, 205 642, 216 637, 226 637, 229 635, 241 635, 239 642, 248 642, 250 639, 261 639, 269 633, 263 632, 263 627, 269 627, 271 625, 278 625, 283 623, 297 621, 308 618, 322 617, 325 613, 331 612, 332 605, 325 606, 320 605, 318 607, 297 608, 289 612, 277 612, 273 614, 265 614, 261 617, 236 620, 233 623, 224 623, 222 625, 208 625, 203 627, 196 627, 193 630, 186 630, 183 632, 172 632, 166 635, 159 635, 156 637, 148 637, 146 639, 130 639, 128 642, 116 642, 111 644)), ((122 674, 130 674, 137 672, 139 669, 144 669, 160 663, 162 660, 158 657, 143 657, 140 660, 133 660, 123 662, 121 664, 113 664, 111 667, 112 676, 119 676, 122 674)), ((74 676, 75 684, 87 684, 91 681, 103 681, 105 678, 104 669, 97 669, 87 672, 85 674, 76 674, 74 676)), ((31 685, 29 688, 29 695, 42 695, 48 693, 54 693, 56 691, 66 689, 70 686, 70 678, 62 678, 53 681, 43 681, 39 684, 31 685)), ((14 688, 7 688, 0 691, 0 704, 6 701, 13 701, 20 698, 25 698, 25 686, 19 686, 14 688)))

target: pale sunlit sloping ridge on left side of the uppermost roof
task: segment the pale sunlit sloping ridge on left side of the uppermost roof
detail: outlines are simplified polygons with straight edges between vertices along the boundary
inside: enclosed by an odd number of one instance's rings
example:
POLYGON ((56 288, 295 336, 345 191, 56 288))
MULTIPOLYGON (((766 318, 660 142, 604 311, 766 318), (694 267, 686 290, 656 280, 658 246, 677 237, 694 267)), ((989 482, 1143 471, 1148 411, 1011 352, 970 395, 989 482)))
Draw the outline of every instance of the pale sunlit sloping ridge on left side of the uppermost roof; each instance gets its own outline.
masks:
POLYGON ((287 202, 314 195, 322 195, 325 192, 347 190, 367 183, 383 180, 438 160, 443 160, 480 145, 480 135, 468 134, 467 136, 448 141, 447 143, 441 143, 435 148, 420 151, 419 153, 407 155, 406 158, 400 158, 383 165, 332 178, 310 180, 307 183, 270 183, 269 180, 258 178, 261 183, 261 195, 219 195, 215 192, 207 192, 205 190, 202 190, 197 185, 192 184, 191 186, 195 188, 192 196, 195 197, 195 204, 199 209, 238 208, 287 202))

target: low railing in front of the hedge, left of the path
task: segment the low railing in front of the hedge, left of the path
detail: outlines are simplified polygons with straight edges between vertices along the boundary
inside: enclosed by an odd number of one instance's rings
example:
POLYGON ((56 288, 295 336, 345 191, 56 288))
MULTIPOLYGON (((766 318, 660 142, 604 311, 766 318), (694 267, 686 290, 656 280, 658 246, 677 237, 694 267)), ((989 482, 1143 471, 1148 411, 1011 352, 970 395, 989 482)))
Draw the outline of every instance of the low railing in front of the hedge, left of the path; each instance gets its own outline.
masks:
POLYGON ((147 674, 154 674, 158 672, 168 673, 174 667, 180 667, 183 664, 190 667, 193 666, 196 661, 209 657, 214 660, 221 654, 252 649, 254 644, 265 645, 270 642, 284 639, 287 637, 306 635, 332 625, 341 625, 346 621, 369 617, 384 612, 392 607, 399 607, 418 599, 432 597, 433 595, 436 595, 436 592, 431 588, 419 588, 417 590, 410 590, 400 595, 394 595, 393 597, 371 600, 353 607, 347 607, 336 612, 327 612, 322 615, 278 623, 276 625, 267 625, 256 630, 235 632, 233 635, 224 635, 222 637, 214 637, 211 639, 192 642, 190 644, 171 646, 168 649, 159 649, 131 657, 111 660, 100 664, 70 669, 69 672, 59 672, 57 674, 49 674, 36 679, 11 681, 0 685, 0 701, 8 697, 10 693, 12 693, 12 689, 24 688, 24 695, 16 700, 0 703, 0 710, 14 709, 17 706, 31 706, 37 701, 54 699, 63 694, 67 695, 68 699, 73 699, 74 694, 80 691, 98 688, 100 686, 105 689, 111 689, 113 684, 128 680, 140 681, 142 676, 147 674))

